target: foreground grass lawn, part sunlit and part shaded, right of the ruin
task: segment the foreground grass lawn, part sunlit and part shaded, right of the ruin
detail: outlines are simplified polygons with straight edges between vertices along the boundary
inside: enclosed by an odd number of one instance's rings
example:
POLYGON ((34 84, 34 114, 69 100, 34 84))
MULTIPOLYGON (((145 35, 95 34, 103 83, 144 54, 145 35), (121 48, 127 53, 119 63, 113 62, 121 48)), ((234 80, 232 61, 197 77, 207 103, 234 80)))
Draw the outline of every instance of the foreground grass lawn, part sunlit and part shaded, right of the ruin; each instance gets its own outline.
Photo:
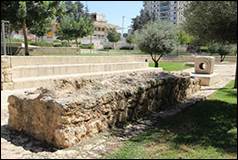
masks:
POLYGON ((105 158, 234 158, 237 157, 237 92, 234 81, 206 101, 129 141, 105 158))

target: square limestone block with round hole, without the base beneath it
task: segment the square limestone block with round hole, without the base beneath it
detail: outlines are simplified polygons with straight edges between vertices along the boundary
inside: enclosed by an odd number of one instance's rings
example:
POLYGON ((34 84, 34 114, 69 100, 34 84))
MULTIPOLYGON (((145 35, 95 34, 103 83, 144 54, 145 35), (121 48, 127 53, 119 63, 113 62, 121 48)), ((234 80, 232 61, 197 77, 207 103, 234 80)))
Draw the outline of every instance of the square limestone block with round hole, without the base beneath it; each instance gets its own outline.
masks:
POLYGON ((195 58, 195 73, 212 74, 214 70, 215 58, 211 56, 197 56, 195 58))

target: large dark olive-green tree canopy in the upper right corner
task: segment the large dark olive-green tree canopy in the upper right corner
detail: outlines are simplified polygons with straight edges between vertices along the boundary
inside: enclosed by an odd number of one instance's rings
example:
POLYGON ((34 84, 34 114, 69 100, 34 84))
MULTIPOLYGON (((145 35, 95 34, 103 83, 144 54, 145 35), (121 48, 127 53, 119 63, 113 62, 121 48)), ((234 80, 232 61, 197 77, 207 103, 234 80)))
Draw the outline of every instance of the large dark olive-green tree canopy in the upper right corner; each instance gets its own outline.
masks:
POLYGON ((184 16, 185 30, 199 41, 237 41, 236 1, 191 1, 184 16))

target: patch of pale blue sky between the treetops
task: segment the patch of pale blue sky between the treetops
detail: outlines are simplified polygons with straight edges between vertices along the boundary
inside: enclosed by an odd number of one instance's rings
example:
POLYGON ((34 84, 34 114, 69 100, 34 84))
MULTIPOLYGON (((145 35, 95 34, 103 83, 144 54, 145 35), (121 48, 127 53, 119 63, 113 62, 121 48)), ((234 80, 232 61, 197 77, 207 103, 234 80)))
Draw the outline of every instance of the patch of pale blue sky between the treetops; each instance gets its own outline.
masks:
MULTIPOLYGON (((84 6, 86 1, 81 1, 84 6)), ((131 18, 139 15, 143 1, 87 1, 89 12, 99 12, 106 16, 108 23, 122 26, 124 19, 124 33, 131 25, 131 18)))

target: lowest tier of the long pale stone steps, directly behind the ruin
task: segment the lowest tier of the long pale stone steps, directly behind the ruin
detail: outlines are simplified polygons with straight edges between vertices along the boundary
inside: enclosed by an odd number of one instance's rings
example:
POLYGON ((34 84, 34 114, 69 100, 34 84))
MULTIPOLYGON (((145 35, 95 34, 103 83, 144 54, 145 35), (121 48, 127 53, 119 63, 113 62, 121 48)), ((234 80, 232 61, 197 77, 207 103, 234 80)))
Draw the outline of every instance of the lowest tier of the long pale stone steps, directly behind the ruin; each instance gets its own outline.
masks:
POLYGON ((13 80, 14 89, 23 88, 36 88, 36 87, 47 87, 54 84, 55 80, 59 79, 79 79, 79 78, 97 78, 107 75, 128 73, 128 72, 147 72, 147 71, 162 71, 162 68, 140 68, 140 69, 128 69, 119 71, 106 71, 106 72, 92 72, 92 73, 81 73, 81 74, 67 74, 67 75, 51 75, 51 76, 40 76, 40 77, 27 77, 17 78, 13 80))

